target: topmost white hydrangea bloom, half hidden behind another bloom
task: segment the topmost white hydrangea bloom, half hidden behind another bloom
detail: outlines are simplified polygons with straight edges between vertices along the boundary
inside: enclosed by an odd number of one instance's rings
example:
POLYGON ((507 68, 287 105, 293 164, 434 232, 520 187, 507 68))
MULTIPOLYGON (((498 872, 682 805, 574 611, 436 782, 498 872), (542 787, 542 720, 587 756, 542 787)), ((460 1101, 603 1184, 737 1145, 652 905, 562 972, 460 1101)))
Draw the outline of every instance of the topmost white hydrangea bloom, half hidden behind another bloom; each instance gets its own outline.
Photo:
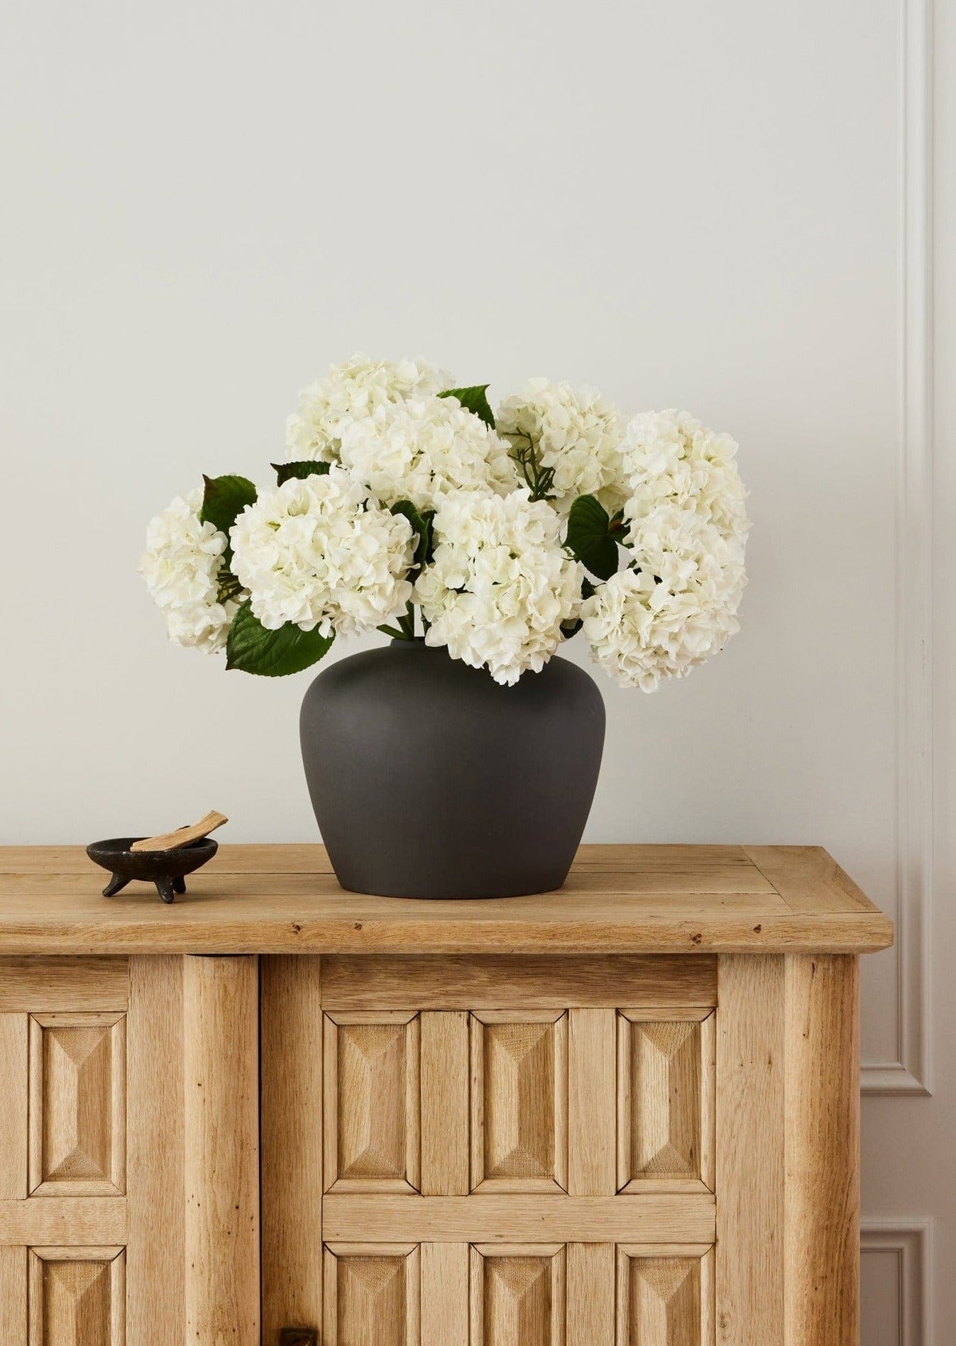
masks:
POLYGON ((454 385, 451 374, 427 359, 396 362, 353 355, 299 393, 299 406, 285 423, 287 458, 335 462, 342 433, 353 420, 407 397, 427 397, 454 385))

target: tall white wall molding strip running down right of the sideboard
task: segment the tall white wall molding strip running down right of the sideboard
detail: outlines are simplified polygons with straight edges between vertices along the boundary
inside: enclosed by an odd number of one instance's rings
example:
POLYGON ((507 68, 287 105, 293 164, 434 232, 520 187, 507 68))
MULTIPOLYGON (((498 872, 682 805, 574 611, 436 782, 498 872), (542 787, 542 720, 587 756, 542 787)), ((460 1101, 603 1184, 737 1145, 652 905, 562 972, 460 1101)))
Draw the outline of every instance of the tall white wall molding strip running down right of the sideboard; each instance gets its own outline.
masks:
POLYGON ((897 1061, 863 1093, 932 1092, 933 0, 901 3, 897 467, 897 1061))

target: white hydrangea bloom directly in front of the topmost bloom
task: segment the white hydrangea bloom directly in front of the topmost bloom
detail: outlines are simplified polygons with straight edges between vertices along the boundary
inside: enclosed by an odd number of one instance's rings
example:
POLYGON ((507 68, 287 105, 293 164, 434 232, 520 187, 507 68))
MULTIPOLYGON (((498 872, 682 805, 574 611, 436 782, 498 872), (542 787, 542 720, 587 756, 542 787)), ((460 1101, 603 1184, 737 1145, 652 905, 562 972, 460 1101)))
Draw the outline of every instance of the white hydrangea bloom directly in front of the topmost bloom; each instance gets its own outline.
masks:
POLYGON ((385 505, 431 509, 455 490, 509 491, 517 485, 508 444, 456 397, 412 397, 353 420, 342 466, 385 505))

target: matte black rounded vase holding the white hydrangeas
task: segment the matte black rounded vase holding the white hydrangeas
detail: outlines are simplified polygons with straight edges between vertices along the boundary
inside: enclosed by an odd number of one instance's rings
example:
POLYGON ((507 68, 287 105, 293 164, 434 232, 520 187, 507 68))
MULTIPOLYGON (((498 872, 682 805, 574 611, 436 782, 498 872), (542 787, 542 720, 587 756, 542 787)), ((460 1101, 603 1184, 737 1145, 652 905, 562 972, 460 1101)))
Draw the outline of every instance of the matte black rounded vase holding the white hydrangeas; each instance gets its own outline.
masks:
POLYGON ((605 704, 567 660, 500 686, 424 641, 353 654, 302 703, 308 793, 343 888, 509 898, 567 878, 605 704))

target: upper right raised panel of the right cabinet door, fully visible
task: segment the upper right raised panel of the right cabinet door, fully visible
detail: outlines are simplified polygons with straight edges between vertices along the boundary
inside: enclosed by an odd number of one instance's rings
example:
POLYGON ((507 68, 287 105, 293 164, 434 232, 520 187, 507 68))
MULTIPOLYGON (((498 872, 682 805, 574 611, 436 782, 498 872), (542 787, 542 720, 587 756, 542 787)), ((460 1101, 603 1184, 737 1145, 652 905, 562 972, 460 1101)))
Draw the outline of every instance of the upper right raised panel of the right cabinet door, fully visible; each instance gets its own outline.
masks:
POLYGON ((714 1190, 715 1016, 618 1015, 618 1190, 714 1190))

